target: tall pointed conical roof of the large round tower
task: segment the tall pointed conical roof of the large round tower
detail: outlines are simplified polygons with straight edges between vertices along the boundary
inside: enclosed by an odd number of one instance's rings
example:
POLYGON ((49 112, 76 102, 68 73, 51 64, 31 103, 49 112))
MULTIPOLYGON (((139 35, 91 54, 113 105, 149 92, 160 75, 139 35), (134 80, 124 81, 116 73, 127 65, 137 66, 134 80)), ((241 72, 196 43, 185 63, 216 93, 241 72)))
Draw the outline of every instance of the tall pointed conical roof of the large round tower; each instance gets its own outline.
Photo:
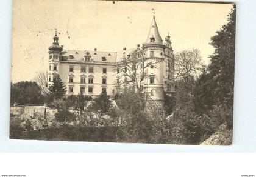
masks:
POLYGON ((149 43, 163 44, 162 38, 158 32, 157 22, 155 21, 155 15, 153 16, 151 27, 148 33, 148 38, 146 40, 146 44, 149 44, 149 43), (154 42, 152 42, 152 38, 154 38, 154 42))

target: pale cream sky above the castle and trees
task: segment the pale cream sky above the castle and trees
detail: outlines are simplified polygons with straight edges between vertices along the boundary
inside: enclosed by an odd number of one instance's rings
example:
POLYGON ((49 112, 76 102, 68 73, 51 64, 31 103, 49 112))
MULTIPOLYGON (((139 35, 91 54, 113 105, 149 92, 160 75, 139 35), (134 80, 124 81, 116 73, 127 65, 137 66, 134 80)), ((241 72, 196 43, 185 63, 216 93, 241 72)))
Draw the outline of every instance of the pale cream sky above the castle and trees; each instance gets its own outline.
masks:
POLYGON ((146 41, 152 8, 162 39, 171 36, 174 52, 214 51, 211 36, 227 23, 232 4, 26 0, 13 2, 12 81, 30 81, 48 68, 55 28, 65 49, 117 52, 146 41), (59 34, 60 33, 60 34, 59 34))

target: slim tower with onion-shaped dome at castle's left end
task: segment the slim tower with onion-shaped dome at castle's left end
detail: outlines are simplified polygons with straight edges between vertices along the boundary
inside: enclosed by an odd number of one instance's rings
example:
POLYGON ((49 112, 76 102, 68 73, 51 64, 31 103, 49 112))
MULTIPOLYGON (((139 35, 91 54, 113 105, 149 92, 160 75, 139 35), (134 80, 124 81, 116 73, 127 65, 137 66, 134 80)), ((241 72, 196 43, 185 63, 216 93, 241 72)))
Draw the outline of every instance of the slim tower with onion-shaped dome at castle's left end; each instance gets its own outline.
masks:
POLYGON ((53 38, 54 42, 51 47, 49 47, 49 72, 48 72, 48 83, 52 84, 55 76, 59 75, 59 65, 62 58, 63 48, 59 46, 59 37, 57 36, 57 31, 55 31, 55 36, 53 38))

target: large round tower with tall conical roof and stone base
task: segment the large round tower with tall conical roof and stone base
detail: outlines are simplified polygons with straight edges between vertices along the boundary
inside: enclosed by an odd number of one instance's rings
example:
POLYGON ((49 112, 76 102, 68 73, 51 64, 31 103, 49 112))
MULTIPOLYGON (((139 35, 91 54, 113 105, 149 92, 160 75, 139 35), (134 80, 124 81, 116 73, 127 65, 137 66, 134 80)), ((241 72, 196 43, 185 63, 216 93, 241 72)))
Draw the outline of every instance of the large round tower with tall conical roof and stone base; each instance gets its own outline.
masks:
POLYGON ((155 15, 152 19, 146 43, 143 44, 143 50, 149 65, 147 68, 148 78, 144 83, 144 92, 148 93, 148 104, 163 106, 165 45, 163 45, 163 40, 158 32, 155 15))

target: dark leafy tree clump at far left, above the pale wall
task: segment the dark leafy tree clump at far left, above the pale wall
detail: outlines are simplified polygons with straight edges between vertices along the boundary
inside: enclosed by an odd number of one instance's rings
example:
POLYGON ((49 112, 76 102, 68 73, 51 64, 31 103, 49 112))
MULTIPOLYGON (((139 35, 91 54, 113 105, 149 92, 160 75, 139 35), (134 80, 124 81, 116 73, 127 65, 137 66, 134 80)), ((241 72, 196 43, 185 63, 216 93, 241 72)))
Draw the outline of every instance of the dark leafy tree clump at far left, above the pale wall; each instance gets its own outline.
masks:
POLYGON ((17 104, 43 104, 43 96, 36 82, 21 81, 11 84, 11 102, 17 104))

